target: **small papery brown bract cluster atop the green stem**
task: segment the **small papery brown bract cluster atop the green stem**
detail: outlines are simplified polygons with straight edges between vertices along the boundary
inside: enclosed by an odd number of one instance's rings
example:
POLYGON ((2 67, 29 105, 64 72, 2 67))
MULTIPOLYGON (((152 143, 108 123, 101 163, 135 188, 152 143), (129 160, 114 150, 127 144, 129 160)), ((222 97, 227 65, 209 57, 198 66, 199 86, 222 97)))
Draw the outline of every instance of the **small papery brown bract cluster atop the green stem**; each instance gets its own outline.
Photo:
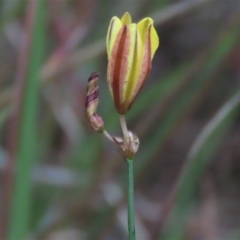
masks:
POLYGON ((117 148, 125 159, 133 159, 139 148, 139 139, 136 134, 128 131, 129 138, 125 141, 121 137, 113 137, 117 148))

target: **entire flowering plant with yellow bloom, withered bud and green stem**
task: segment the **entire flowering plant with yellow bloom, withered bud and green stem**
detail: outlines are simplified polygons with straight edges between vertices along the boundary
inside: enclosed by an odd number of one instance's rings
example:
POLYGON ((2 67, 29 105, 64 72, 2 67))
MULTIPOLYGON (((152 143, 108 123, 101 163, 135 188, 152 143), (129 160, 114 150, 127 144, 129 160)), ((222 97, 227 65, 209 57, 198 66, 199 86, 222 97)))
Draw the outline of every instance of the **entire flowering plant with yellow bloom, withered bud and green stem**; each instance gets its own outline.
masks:
POLYGON ((128 131, 125 114, 141 90, 151 70, 152 58, 159 45, 153 19, 147 17, 132 23, 126 12, 121 19, 114 16, 106 38, 108 56, 108 86, 117 112, 120 114, 122 137, 111 136, 96 113, 99 103, 98 73, 88 79, 86 112, 92 128, 113 142, 128 166, 128 239, 135 240, 133 157, 139 148, 136 134, 128 131))

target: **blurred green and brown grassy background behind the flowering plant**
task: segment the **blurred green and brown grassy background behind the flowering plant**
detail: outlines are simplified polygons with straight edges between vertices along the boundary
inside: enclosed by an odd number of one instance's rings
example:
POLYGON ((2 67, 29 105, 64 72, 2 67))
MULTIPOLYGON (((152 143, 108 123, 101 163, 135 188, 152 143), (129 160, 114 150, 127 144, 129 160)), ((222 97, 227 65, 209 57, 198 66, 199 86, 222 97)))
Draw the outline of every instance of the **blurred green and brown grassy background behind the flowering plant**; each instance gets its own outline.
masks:
POLYGON ((107 81, 113 16, 160 36, 127 114, 138 240, 240 239, 240 2, 0 1, 0 239, 127 239, 126 165, 85 116, 120 124, 107 81))

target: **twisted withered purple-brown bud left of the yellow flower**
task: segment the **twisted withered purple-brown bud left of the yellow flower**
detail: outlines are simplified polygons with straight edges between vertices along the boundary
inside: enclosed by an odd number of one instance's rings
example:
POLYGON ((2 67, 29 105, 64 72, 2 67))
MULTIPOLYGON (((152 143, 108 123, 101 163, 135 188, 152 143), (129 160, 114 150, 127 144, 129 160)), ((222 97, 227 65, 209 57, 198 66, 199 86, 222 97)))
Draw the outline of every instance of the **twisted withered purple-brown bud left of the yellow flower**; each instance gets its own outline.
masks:
POLYGON ((104 130, 103 119, 96 113, 99 103, 99 73, 92 73, 88 79, 87 97, 86 97, 86 114, 91 127, 98 132, 104 130))

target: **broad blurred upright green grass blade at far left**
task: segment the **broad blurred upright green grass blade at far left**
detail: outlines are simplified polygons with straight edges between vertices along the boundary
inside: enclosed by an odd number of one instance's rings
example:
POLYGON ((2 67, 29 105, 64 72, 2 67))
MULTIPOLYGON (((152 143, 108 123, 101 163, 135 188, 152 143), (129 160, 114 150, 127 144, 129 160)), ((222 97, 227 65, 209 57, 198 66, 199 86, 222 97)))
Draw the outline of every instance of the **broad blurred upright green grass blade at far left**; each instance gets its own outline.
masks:
MULTIPOLYGON (((30 224, 31 175, 30 170, 36 155, 36 117, 39 91, 39 70, 44 50, 45 1, 29 1, 28 20, 33 34, 27 64, 27 74, 21 89, 21 112, 18 121, 18 142, 16 148, 16 176, 13 189, 12 211, 8 239, 26 239, 30 224)), ((30 36, 31 37, 31 36, 30 36)), ((24 81, 24 80, 23 80, 24 81)))

